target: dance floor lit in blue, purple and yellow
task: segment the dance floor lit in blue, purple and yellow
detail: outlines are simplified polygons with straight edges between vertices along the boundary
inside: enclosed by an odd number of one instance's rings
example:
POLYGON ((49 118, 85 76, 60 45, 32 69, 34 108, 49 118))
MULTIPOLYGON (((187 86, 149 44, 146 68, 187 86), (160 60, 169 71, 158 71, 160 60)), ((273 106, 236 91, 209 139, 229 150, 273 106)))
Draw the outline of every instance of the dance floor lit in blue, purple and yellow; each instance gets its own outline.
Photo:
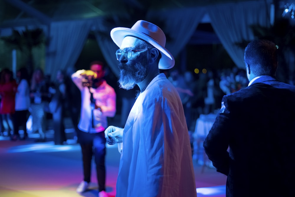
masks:
MULTIPOLYGON (((91 184, 88 191, 78 194, 76 188, 82 181, 80 146, 67 129, 68 144, 54 145, 53 132, 46 133, 46 142, 34 142, 35 134, 25 141, 10 141, 0 137, 0 196, 1 197, 67 197, 98 196, 95 165, 92 165, 91 184)), ((117 146, 107 145, 106 192, 116 195, 120 154, 117 146)), ((194 160, 196 190, 200 196, 225 196, 226 176, 214 168, 194 160)))

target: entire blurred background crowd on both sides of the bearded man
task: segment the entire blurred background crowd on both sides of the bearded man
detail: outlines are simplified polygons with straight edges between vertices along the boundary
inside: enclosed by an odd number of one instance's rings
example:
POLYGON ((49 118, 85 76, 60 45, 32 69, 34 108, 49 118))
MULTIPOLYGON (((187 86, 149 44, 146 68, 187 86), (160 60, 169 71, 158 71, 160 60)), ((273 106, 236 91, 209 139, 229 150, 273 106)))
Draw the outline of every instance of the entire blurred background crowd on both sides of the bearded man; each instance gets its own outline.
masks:
MULTIPOLYGON (((45 75, 42 69, 35 69, 29 76, 26 68, 14 75, 10 69, 0 72, 0 135, 9 136, 12 141, 28 138, 27 121, 32 123, 32 133, 39 134, 35 141, 46 141, 48 119, 52 119, 55 144, 66 144, 64 118, 71 119, 74 138, 79 121, 81 97, 71 80, 74 70, 59 70, 56 76, 45 75), (79 96, 77 96, 79 95, 79 96), (73 99, 75 98, 75 99, 73 99), (19 131, 23 130, 20 135, 19 131)), ((248 86, 244 69, 208 70, 207 73, 180 72, 178 69, 160 70, 172 82, 182 100, 189 130, 194 131, 196 119, 201 114, 216 113, 224 95, 248 86)), ((106 76, 106 80, 108 76, 106 76)), ((111 79, 114 77, 111 77, 111 79)), ((113 82, 112 86, 118 84, 113 82)), ((121 115, 119 125, 124 127, 126 117, 135 102, 138 89, 122 90, 114 87, 121 98, 117 110, 121 115)))

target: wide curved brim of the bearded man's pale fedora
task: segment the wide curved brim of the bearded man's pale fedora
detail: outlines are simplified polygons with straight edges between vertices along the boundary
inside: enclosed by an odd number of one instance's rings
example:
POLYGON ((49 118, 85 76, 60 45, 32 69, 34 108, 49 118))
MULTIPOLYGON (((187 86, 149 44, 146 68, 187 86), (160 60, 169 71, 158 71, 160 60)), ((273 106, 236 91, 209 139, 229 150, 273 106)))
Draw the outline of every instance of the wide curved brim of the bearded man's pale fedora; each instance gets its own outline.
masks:
POLYGON ((157 48, 162 55, 159 61, 159 69, 171 69, 174 66, 175 60, 171 53, 150 36, 126 27, 116 27, 111 31, 111 38, 119 48, 121 48, 122 41, 126 36, 135 36, 157 48))

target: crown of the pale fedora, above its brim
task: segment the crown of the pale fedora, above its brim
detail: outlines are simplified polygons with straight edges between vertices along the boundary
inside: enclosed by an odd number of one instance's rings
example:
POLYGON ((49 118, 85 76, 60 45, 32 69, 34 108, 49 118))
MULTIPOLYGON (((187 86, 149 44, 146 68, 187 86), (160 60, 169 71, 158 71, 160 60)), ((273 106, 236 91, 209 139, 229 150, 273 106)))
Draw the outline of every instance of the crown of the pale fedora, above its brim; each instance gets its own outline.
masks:
POLYGON ((161 46, 165 47, 166 36, 157 25, 144 20, 139 20, 131 27, 131 29, 148 35, 150 38, 157 41, 161 46))

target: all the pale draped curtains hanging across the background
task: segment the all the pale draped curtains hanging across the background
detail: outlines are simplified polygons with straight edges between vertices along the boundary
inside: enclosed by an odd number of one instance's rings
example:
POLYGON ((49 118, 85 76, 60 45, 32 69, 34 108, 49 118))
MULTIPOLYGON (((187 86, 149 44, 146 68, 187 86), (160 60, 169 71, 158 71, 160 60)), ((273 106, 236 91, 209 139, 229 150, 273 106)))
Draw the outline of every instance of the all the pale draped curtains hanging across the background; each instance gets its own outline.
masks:
MULTIPOLYGON (((245 68, 244 49, 235 45, 242 39, 253 40, 250 25, 270 25, 269 6, 266 0, 240 3, 218 4, 208 7, 190 7, 179 9, 150 10, 144 20, 153 22, 166 34, 166 46, 176 57, 201 22, 205 13, 211 19, 212 27, 222 45, 239 68, 245 68), (156 19, 155 19, 156 18, 156 19)), ((108 32, 103 18, 53 22, 50 26, 50 44, 46 50, 45 73, 55 79, 58 69, 73 68, 85 44, 89 31, 108 32)), ((131 27, 129 27, 131 28, 131 27)), ((115 51, 118 49, 109 35, 96 33, 96 40, 107 64, 116 76, 119 76, 115 51)), ((178 65, 176 65, 178 66, 178 65)), ((180 65, 185 66, 185 65, 180 65)))

